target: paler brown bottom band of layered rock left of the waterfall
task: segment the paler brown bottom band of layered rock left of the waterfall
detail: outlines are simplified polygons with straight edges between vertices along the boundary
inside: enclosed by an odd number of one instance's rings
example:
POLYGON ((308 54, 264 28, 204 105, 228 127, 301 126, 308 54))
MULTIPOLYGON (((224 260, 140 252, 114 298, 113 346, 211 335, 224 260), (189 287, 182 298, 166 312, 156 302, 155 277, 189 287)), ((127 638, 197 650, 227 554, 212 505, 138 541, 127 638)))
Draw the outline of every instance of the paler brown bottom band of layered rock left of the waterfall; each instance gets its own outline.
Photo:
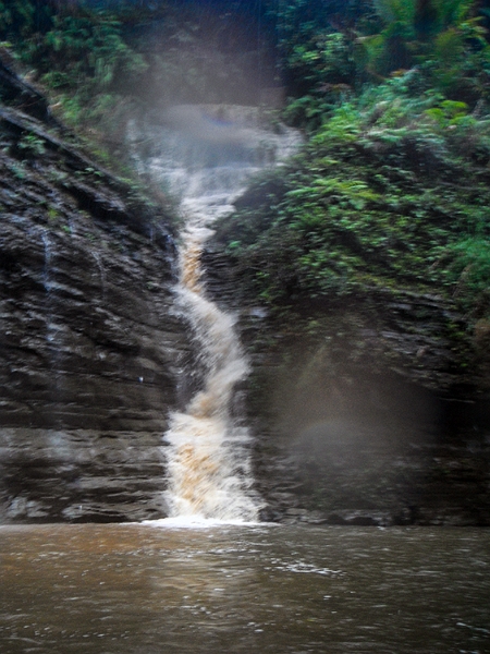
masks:
POLYGON ((2 520, 125 522, 161 518, 160 432, 1 429, 2 520))

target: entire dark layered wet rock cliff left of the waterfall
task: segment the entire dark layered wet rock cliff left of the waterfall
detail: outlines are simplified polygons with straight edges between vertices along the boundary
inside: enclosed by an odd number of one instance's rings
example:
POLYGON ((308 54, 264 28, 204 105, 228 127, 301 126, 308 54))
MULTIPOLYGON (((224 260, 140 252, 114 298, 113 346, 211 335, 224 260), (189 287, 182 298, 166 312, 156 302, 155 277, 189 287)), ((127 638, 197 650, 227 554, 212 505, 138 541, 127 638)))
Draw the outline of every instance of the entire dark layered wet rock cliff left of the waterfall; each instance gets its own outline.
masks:
POLYGON ((189 344, 166 216, 12 108, 0 116, 0 520, 162 517, 189 344))

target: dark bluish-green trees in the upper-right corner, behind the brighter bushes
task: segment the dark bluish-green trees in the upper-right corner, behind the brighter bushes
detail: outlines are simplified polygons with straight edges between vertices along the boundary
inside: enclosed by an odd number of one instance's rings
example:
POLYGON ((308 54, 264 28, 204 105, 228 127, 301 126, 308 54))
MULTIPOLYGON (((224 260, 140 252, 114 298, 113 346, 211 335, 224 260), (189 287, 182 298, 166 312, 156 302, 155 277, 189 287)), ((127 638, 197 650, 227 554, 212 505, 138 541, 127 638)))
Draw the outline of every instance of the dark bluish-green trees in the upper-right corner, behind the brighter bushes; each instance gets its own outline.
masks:
POLYGON ((417 71, 411 93, 474 107, 490 98, 490 47, 471 0, 278 2, 279 48, 293 98, 285 118, 318 129, 363 84, 417 71), (348 8, 348 9, 347 9, 348 8))

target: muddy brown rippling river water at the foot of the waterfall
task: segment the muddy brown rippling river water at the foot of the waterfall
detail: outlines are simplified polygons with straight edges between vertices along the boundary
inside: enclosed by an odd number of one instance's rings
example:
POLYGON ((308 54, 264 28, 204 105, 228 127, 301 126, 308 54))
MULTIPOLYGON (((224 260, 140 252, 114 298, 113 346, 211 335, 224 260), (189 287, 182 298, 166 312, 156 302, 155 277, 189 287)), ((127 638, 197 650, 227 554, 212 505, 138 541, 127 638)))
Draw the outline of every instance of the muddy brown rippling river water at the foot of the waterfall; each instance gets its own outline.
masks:
POLYGON ((2 654, 490 652, 490 532, 0 528, 2 654))

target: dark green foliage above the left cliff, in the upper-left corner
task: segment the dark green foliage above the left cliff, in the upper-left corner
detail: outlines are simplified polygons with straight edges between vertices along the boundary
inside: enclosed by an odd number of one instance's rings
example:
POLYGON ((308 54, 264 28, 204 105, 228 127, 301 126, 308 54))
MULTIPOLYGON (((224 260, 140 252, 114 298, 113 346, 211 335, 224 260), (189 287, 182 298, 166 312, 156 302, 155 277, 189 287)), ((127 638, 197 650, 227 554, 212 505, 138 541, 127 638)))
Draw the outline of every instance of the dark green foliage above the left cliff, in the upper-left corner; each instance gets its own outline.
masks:
POLYGON ((66 122, 96 126, 110 137, 120 129, 132 86, 147 63, 110 11, 84 2, 53 7, 33 0, 8 7, 0 2, 0 38, 9 37, 16 56, 35 68, 66 122))

